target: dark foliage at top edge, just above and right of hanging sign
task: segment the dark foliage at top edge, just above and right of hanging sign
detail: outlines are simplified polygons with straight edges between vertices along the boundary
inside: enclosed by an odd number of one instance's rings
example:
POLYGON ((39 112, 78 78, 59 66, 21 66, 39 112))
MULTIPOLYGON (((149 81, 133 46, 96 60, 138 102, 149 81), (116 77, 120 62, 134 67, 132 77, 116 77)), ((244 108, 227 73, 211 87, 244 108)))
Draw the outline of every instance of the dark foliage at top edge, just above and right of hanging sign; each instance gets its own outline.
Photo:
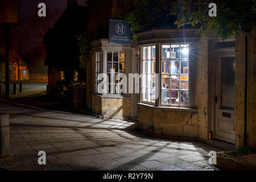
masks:
POLYGON ((174 19, 169 10, 172 7, 170 0, 130 0, 126 20, 131 26, 133 38, 136 40, 136 31, 154 26, 171 26, 174 19))

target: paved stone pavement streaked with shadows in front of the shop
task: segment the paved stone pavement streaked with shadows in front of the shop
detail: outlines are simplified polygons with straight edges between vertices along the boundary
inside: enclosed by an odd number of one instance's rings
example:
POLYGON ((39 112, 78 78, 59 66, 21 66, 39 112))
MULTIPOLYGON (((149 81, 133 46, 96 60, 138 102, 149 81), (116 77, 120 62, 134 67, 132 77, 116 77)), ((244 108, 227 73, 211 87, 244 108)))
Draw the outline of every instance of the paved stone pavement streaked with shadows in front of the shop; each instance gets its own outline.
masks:
POLYGON ((11 155, 0 158, 9 170, 208 171, 209 151, 219 148, 189 140, 152 138, 137 122, 99 119, 47 110, 15 101, 0 102, 10 114, 11 155), (46 152, 46 165, 38 152, 46 152))

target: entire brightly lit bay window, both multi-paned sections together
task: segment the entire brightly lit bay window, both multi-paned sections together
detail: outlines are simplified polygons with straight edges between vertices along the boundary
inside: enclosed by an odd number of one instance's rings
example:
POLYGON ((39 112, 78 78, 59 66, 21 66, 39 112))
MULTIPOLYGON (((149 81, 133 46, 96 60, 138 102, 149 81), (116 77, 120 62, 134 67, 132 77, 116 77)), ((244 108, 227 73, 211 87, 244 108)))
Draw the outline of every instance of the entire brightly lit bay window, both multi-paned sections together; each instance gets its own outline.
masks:
MULTIPOLYGON (((156 106, 195 107, 195 65, 191 82, 189 44, 156 44, 142 46, 141 100, 156 106), (156 65, 159 65, 156 67, 156 65), (156 70, 159 69, 159 70, 156 70), (156 73, 159 73, 159 89, 156 89, 156 73), (193 84, 191 90, 190 84, 193 84), (159 90, 159 98, 155 98, 159 90), (191 100, 190 96, 193 94, 191 100), (156 102, 157 101, 157 102, 156 102), (192 102, 192 104, 191 104, 192 102)), ((196 63, 195 61, 193 61, 196 63)))

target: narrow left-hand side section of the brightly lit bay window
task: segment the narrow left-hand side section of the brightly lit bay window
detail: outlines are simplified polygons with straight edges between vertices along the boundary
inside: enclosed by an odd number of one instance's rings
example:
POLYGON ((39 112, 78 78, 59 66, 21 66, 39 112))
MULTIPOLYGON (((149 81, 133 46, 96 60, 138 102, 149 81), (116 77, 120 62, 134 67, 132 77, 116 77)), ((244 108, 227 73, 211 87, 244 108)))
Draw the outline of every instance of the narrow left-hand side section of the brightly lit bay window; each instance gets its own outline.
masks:
POLYGON ((142 47, 142 101, 155 102, 155 46, 142 47))

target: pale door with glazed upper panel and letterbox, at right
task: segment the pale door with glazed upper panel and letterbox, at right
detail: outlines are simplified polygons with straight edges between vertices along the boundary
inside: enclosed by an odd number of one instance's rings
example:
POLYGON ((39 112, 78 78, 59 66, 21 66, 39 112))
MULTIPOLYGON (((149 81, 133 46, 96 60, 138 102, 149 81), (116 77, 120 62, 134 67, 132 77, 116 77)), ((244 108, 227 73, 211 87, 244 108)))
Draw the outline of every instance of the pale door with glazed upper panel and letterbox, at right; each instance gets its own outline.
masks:
POLYGON ((214 138, 234 143, 235 57, 216 56, 214 138))

